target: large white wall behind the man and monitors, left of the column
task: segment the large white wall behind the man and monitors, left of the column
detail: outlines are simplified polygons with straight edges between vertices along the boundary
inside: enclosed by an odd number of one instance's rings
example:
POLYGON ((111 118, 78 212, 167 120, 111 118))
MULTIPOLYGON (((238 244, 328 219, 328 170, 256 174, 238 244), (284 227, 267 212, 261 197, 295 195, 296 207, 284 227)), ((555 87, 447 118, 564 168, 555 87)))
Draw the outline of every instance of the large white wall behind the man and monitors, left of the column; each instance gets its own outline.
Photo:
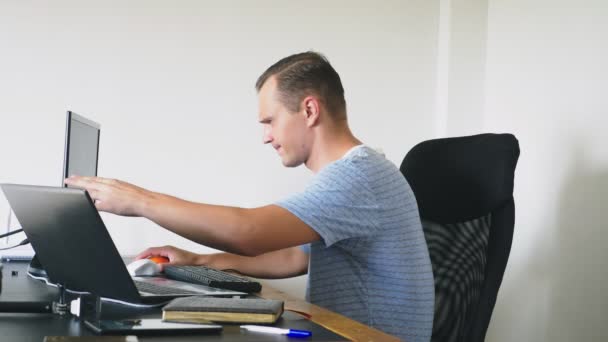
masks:
MULTIPOLYGON (((426 0, 0 1, 0 182, 60 184, 69 109, 102 124, 102 176, 215 204, 278 200, 310 173, 261 144, 254 83, 308 49, 342 76, 355 134, 399 164, 433 134, 437 16, 426 0)), ((124 254, 209 251, 103 217, 124 254)), ((304 278, 275 285, 303 296, 304 278)))

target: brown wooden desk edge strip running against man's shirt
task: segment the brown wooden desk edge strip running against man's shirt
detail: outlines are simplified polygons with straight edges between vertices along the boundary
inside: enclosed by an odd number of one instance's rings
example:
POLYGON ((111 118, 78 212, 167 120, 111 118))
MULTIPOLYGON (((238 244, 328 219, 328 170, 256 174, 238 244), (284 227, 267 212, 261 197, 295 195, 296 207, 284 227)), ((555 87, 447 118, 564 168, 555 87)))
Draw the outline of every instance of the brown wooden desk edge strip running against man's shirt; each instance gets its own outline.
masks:
POLYGON ((285 310, 303 313, 318 325, 344 336, 353 341, 400 341, 393 335, 388 335, 378 329, 368 327, 365 324, 324 309, 320 306, 308 303, 288 295, 285 292, 275 290, 269 286, 262 287, 261 297, 267 299, 280 299, 285 302, 285 310))

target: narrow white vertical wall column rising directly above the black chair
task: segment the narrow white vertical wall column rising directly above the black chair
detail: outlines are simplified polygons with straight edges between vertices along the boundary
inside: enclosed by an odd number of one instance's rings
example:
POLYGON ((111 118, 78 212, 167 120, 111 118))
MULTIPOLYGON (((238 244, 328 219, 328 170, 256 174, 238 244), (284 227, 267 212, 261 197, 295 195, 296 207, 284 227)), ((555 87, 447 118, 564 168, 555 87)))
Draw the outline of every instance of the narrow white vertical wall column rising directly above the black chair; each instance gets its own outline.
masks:
POLYGON ((487 0, 441 0, 435 136, 482 131, 487 0))

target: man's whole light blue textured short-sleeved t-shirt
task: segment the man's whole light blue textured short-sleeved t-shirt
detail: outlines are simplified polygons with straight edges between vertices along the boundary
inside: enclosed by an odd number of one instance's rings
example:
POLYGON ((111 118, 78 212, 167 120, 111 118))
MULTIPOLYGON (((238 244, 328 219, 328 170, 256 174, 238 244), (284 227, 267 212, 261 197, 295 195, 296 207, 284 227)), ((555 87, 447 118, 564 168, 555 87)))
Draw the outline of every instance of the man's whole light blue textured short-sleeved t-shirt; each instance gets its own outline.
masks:
POLYGON ((277 205, 314 229, 306 299, 408 342, 429 341, 434 284, 416 199, 382 154, 357 146, 277 205))

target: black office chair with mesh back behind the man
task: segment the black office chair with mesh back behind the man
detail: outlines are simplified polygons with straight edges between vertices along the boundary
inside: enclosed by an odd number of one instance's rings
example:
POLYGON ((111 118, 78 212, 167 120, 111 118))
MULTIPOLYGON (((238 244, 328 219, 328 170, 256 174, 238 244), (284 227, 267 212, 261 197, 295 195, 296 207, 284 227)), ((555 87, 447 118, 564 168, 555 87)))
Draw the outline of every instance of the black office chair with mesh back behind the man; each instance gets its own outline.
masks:
POLYGON ((400 170, 418 201, 435 278, 432 341, 485 339, 515 223, 511 134, 424 141, 400 170))

